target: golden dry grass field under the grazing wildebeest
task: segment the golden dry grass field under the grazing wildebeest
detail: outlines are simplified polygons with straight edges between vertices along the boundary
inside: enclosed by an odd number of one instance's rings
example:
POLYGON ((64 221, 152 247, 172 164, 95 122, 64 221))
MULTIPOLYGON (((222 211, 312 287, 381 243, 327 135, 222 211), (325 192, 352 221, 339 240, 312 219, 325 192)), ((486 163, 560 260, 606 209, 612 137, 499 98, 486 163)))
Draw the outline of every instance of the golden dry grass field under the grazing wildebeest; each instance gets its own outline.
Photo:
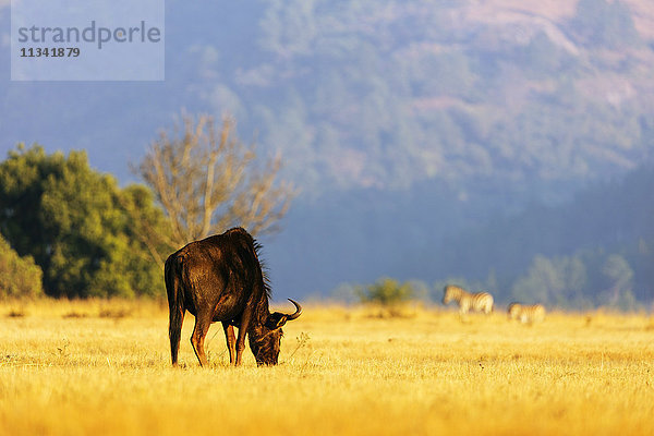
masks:
POLYGON ((229 367, 214 325, 203 370, 162 303, 0 303, 0 434, 654 434, 651 316, 377 314, 307 305, 276 367, 229 367))

